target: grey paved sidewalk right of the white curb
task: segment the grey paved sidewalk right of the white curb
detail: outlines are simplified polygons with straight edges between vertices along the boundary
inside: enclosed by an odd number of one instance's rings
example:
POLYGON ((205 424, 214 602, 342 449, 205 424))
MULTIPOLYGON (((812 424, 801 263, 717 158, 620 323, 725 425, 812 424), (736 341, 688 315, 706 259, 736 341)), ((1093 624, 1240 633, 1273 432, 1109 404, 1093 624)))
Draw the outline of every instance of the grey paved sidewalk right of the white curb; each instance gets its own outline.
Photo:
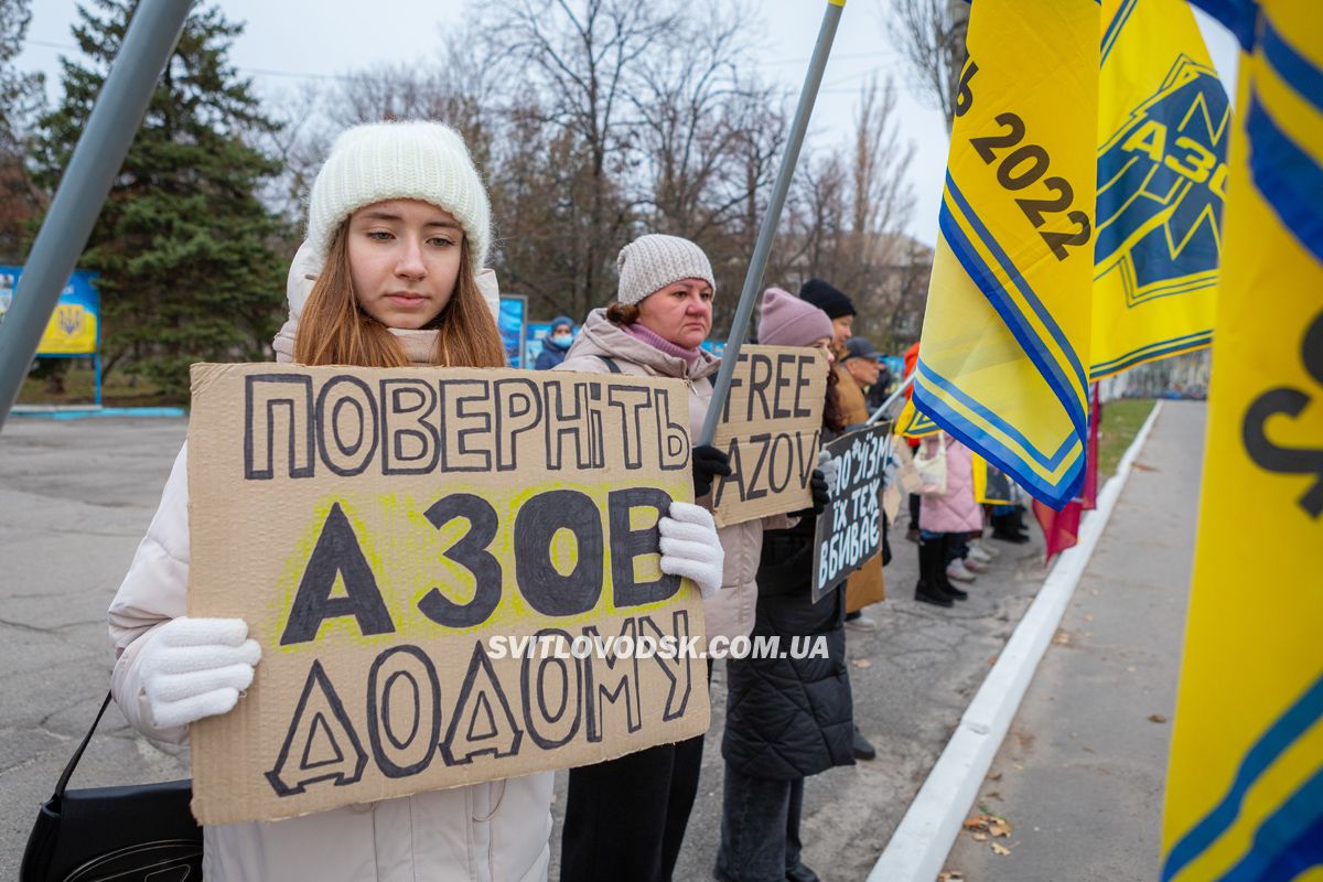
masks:
POLYGON ((1011 834, 962 832, 947 858, 967 882, 1158 878, 1205 414, 1163 403, 970 808, 1011 834))

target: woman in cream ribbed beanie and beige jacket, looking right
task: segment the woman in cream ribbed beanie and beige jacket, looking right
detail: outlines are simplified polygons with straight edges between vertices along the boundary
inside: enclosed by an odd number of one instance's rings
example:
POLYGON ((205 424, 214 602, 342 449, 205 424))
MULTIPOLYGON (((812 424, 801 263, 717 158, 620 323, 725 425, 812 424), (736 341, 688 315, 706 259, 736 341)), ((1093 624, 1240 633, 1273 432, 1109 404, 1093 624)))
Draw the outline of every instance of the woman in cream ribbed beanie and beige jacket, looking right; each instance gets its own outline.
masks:
MULTIPOLYGON (((712 401, 712 378, 721 366, 701 348, 712 331, 712 264, 688 239, 650 234, 624 246, 617 268, 617 301, 589 313, 556 369, 681 378, 689 386, 691 431, 697 438, 712 401)), ((725 456, 713 447, 696 447, 693 492, 700 504, 710 502, 717 473, 730 473, 725 456)), ((763 528, 791 522, 777 516, 718 532, 725 571, 721 590, 704 592, 708 640, 721 635, 729 641, 753 629, 763 528)), ((570 770, 561 881, 669 882, 701 766, 700 735, 570 770)))

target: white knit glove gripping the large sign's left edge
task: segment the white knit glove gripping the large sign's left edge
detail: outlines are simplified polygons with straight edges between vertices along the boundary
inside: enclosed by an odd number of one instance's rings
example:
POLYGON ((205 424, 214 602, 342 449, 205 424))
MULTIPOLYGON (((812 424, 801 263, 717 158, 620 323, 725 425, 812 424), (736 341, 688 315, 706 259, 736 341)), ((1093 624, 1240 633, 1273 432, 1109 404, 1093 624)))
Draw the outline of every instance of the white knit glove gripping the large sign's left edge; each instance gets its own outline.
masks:
POLYGON ((180 616, 163 624, 139 657, 156 726, 172 729, 232 710, 262 657, 246 637, 243 619, 180 616))

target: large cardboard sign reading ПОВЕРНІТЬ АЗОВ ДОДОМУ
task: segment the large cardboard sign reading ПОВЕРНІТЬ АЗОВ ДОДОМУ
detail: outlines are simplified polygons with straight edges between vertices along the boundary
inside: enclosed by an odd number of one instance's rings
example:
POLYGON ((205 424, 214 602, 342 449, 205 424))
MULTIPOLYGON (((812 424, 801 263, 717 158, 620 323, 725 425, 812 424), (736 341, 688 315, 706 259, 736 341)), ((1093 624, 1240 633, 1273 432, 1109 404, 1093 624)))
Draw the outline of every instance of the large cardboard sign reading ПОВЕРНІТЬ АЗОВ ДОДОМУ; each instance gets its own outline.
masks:
POLYGON ((197 819, 705 731, 701 600, 658 563, 693 493, 687 402, 646 377, 194 365, 188 615, 262 645, 238 707, 192 727, 197 819))

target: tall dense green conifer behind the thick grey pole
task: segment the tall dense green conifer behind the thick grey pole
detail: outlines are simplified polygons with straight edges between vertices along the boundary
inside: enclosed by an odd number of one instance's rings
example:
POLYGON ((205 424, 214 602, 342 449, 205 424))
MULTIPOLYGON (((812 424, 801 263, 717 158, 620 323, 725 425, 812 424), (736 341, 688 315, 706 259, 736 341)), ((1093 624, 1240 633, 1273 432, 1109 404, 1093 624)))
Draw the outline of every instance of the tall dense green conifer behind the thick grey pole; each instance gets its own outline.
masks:
MULTIPOLYGON (((64 100, 33 153, 50 190, 138 5, 93 4, 73 26, 85 58, 61 60, 64 100)), ((267 357, 282 319, 288 231, 257 196, 279 165, 251 145, 275 123, 228 61, 241 32, 216 7, 188 17, 79 261, 101 274, 107 372, 120 365, 179 398, 194 361, 267 357)))

